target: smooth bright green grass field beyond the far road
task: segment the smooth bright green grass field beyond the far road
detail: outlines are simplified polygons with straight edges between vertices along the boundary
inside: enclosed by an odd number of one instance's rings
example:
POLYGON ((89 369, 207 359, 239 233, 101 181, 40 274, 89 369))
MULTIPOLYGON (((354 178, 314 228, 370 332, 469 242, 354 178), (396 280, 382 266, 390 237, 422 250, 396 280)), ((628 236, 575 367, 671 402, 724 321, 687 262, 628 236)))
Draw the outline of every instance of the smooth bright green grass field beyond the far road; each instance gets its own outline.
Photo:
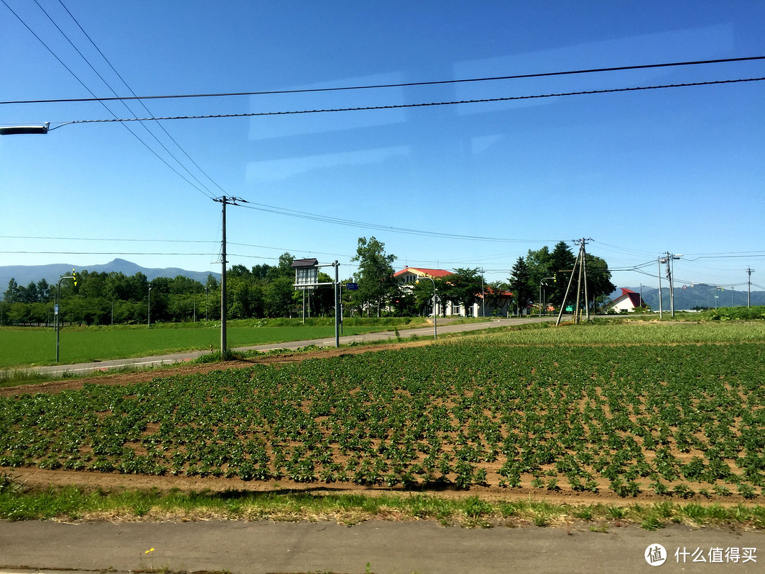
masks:
MULTIPOLYGON (((399 327, 403 327, 399 320, 399 327)), ((334 325, 327 319, 300 325, 287 321, 229 321, 226 328, 229 347, 283 343, 334 337, 334 325)), ((421 321, 422 322, 422 321, 421 321)), ((389 331, 392 321, 349 321, 343 334, 389 331)), ((407 327, 417 326, 410 322, 407 327)), ((176 351, 193 351, 220 347, 220 323, 188 323, 125 328, 83 327, 63 328, 60 332, 60 363, 82 363, 93 360, 148 357, 176 351)), ((219 349, 220 350, 220 349, 219 349)), ((56 334, 51 328, 0 329, 0 368, 24 365, 54 364, 56 334)))

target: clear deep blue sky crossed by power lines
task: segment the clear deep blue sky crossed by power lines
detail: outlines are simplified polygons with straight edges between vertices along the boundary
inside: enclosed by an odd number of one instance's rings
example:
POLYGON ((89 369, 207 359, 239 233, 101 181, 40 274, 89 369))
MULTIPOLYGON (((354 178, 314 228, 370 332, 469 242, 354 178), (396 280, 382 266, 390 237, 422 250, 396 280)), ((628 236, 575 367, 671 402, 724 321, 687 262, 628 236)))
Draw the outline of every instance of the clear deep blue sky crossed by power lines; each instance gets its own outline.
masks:
MULTIPOLYGON (((27 0, 3 2, 0 100, 90 97, 50 51, 96 96, 112 96, 41 8, 27 0)), ((139 96, 765 55, 765 2, 39 2, 120 96, 129 89, 63 5, 139 96)), ((0 125, 400 105, 748 77, 765 77, 765 60, 145 100, 150 111, 135 102, 129 103, 133 112, 109 103, 113 116, 100 103, 2 104, 0 125)), ((675 262, 681 282, 742 284, 750 267, 756 269, 752 280, 765 285, 765 82, 162 122, 182 151, 156 122, 143 126, 129 124, 196 188, 122 123, 0 137, 0 265, 87 266, 119 256, 148 267, 218 271, 221 210, 210 196, 225 193, 322 217, 504 240, 412 235, 230 206, 230 265, 274 264, 289 251, 322 263, 339 259, 341 276, 350 276, 357 238, 376 236, 398 256, 399 269, 483 267, 494 280, 506 279, 529 249, 585 237, 592 238, 588 251, 611 269, 653 261, 643 272, 614 271, 619 286, 657 286, 656 258, 666 251, 683 254, 675 262), (22 251, 30 253, 14 253, 22 251)))

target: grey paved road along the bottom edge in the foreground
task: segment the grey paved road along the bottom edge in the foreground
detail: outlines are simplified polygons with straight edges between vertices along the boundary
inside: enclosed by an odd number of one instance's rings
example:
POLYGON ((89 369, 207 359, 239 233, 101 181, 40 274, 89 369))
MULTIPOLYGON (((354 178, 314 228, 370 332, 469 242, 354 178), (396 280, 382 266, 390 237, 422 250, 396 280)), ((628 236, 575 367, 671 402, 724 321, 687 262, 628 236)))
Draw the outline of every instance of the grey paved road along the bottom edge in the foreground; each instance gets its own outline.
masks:
POLYGON ((0 522, 0 572, 763 572, 765 534, 671 526, 655 532, 586 524, 464 529, 431 522, 0 522), (661 544, 653 568, 646 549, 661 544), (739 559, 732 562, 737 550, 739 559), (744 550, 744 549, 755 550, 744 550), (698 549, 698 550, 697 550, 698 549), (713 549, 721 549, 715 553, 713 549), (675 551, 679 553, 675 557, 675 551), (682 563, 683 555, 685 563, 682 563), (728 561, 726 562, 726 553, 728 561), (755 556, 744 563, 744 555, 755 556), (704 563, 693 560, 703 558, 704 563), (721 562, 711 563, 712 559, 721 562), (680 561, 678 563, 678 560, 680 561))

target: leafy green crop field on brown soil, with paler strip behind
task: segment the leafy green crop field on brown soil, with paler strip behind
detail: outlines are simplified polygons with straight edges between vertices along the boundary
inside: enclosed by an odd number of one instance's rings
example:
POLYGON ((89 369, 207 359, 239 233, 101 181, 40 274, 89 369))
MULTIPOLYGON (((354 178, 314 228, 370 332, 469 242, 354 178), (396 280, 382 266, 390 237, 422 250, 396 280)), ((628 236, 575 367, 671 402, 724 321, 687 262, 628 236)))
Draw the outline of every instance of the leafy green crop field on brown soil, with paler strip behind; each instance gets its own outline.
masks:
POLYGON ((765 328, 539 328, 0 399, 0 466, 763 499, 765 328))

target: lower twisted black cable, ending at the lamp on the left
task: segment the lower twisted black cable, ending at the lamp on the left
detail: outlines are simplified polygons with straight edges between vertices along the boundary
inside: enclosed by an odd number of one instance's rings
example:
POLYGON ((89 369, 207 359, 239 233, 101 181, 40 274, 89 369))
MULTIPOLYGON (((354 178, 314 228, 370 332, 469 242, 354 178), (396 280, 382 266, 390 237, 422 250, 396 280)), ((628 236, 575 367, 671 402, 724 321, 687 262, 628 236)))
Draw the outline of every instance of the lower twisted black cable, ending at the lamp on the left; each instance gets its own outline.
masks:
MULTIPOLYGON (((149 118, 123 118, 123 119, 74 119, 70 122, 58 122, 59 125, 52 129, 58 129, 62 126, 69 126, 75 123, 108 123, 108 122, 150 122, 156 120, 169 120, 169 119, 220 119, 220 118, 252 118, 257 116, 290 116, 295 114, 308 114, 308 113, 332 113, 332 112, 368 112, 375 109, 402 109, 402 108, 424 108, 431 106, 457 106, 467 103, 493 103, 493 102, 510 102, 519 99, 542 99, 542 98, 558 98, 564 96, 591 96, 601 93, 619 93, 619 92, 636 92, 641 90, 664 90, 667 88, 684 88, 692 86, 715 86, 726 83, 743 83, 743 82, 761 82, 765 80, 765 77, 757 78, 738 78, 736 80, 714 80, 709 82, 689 82, 689 83, 667 83, 659 86, 635 86, 631 88, 609 88, 607 90, 584 90, 580 92, 559 92, 559 93, 545 93, 536 94, 532 96, 506 96, 501 98, 480 98, 480 99, 460 99, 449 102, 425 102, 425 103, 400 103, 389 104, 386 106, 362 106, 351 108, 327 108, 327 109, 298 109, 287 110, 281 112, 250 112, 250 113, 220 113, 209 114, 203 116, 160 116, 149 118)), ((50 131, 50 130, 49 130, 50 131)))

